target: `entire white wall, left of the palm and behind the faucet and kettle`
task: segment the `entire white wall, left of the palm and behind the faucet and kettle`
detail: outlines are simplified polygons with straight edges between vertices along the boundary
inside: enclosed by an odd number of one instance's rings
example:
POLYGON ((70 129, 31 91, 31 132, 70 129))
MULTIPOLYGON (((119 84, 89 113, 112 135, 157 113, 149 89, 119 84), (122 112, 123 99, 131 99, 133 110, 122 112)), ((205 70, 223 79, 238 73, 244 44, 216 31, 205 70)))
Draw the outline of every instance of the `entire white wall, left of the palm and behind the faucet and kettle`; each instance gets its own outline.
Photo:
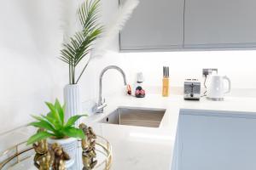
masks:
MULTIPOLYGON (((103 21, 113 18, 117 1, 102 0, 103 21)), ((0 133, 31 121, 46 111, 44 101, 62 99, 68 82, 67 65, 57 59, 61 48, 60 4, 57 0, 0 2, 0 133)), ((170 66, 171 85, 183 86, 187 77, 201 77, 204 67, 217 67, 233 88, 256 88, 256 51, 172 52, 119 54, 118 38, 108 54, 94 59, 81 79, 83 100, 97 96, 98 76, 107 65, 119 65, 134 82, 143 71, 148 86, 159 86, 162 66, 170 66)), ((122 88, 122 77, 109 71, 103 93, 122 88)))

